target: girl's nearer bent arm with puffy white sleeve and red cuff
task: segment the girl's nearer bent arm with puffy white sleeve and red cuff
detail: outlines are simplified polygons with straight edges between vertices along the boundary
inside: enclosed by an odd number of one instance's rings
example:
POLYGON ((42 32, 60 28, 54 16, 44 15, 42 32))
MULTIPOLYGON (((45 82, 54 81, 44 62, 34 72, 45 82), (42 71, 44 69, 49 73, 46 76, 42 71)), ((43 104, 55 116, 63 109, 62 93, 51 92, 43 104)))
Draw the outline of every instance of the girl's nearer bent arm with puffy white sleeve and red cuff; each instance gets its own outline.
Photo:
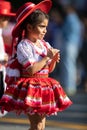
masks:
POLYGON ((20 42, 17 46, 17 58, 20 64, 29 72, 30 75, 40 71, 48 65, 48 61, 53 59, 56 49, 48 49, 47 55, 40 61, 35 62, 33 48, 31 44, 20 42))

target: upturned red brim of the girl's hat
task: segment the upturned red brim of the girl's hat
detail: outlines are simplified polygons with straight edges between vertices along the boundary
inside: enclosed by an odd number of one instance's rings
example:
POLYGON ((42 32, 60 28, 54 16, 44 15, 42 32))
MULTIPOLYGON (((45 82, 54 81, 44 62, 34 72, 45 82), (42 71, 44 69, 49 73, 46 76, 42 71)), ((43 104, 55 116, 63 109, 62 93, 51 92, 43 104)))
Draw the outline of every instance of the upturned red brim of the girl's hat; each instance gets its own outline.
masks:
POLYGON ((48 13, 51 9, 52 2, 50 0, 43 0, 39 4, 36 4, 24 17, 15 25, 12 31, 12 36, 17 37, 20 31, 20 25, 22 22, 36 9, 40 9, 41 11, 48 13))

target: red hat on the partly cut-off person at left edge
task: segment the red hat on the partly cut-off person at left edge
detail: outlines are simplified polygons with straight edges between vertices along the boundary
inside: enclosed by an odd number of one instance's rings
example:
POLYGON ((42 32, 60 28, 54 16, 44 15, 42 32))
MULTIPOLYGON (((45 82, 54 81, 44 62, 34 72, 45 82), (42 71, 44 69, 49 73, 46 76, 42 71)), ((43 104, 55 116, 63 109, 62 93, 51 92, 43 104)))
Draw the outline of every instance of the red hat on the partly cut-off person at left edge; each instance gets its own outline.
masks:
POLYGON ((0 0, 0 16, 15 16, 11 11, 11 3, 8 1, 0 0))

